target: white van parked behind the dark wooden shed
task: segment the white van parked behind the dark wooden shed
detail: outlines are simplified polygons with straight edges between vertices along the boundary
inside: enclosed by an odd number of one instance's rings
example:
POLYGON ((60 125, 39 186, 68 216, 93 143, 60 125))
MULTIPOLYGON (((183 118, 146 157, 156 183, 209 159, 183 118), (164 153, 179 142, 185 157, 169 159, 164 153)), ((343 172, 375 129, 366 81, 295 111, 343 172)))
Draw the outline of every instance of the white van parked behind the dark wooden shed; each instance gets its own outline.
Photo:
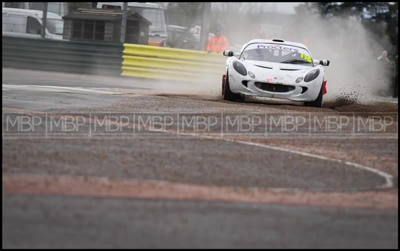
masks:
MULTIPOLYGON (((122 10, 123 3, 98 2, 97 8, 122 10)), ((128 3, 128 11, 134 11, 151 22, 151 25, 148 27, 148 45, 166 46, 168 35, 166 33, 164 9, 160 5, 153 3, 128 3)))

